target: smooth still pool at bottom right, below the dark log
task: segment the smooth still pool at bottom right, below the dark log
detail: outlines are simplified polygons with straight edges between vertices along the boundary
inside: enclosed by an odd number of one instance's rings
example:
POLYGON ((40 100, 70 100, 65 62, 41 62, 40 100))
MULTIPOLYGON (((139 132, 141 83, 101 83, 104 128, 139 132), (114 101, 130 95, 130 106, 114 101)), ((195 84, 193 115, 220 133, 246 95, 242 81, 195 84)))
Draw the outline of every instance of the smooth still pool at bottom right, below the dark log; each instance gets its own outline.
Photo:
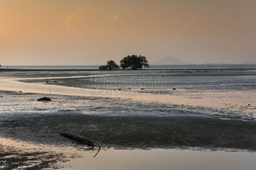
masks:
MULTIPOLYGON (((86 169, 173 169, 240 170, 255 169, 255 152, 193 151, 176 149, 103 150, 96 157, 85 152, 84 158, 68 162, 76 170, 86 169)), ((68 170, 69 168, 62 168, 68 170)))

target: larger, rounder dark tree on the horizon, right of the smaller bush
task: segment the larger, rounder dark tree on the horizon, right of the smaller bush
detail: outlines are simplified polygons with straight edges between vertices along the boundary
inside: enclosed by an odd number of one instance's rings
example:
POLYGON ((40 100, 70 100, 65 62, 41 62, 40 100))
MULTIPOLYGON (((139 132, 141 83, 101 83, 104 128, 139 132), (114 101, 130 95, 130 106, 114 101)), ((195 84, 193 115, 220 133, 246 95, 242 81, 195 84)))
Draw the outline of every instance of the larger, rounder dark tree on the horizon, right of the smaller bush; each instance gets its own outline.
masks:
POLYGON ((142 69, 142 66, 149 67, 146 57, 139 55, 127 55, 120 61, 122 69, 142 69))

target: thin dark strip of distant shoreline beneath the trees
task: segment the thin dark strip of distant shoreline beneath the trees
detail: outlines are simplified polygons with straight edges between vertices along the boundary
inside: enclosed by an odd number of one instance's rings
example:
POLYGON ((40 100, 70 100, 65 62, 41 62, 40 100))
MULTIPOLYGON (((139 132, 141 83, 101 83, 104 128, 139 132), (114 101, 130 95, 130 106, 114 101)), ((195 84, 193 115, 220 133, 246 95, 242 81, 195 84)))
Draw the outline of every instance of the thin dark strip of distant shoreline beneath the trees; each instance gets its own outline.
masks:
MULTIPOLYGON (((134 70, 134 69, 117 69, 134 70)), ((225 69, 137 69, 137 70, 256 70, 256 68, 225 68, 225 69)), ((98 69, 0 69, 0 71, 115 71, 98 69)))

